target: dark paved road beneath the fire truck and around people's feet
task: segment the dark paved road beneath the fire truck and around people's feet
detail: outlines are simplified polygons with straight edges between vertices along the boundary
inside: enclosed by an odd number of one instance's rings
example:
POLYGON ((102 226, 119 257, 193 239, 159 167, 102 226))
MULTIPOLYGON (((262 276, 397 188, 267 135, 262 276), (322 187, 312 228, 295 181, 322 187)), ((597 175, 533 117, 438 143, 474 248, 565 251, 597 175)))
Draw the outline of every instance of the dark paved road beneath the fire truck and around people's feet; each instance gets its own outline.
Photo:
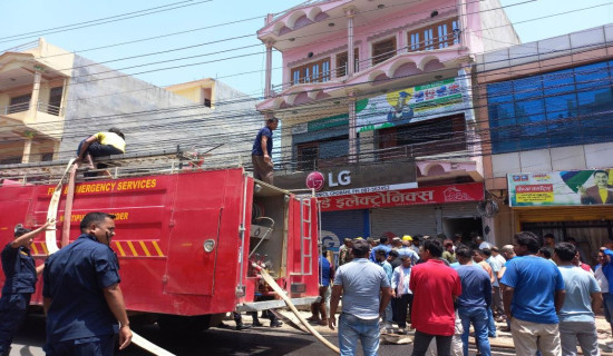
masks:
MULTIPOLYGON (((264 322, 267 325, 267 320, 264 322)), ((234 325, 233 322, 226 322, 234 325)), ((157 326, 146 326, 137 330, 148 340, 174 353, 177 356, 195 355, 333 355, 313 336, 303 334, 289 326, 281 328, 257 327, 242 332, 233 329, 211 328, 193 336, 171 336, 163 333, 157 326)), ((324 336, 332 344, 338 345, 335 334, 324 336)), ((41 356, 45 342, 45 318, 31 315, 13 343, 11 356, 41 356)), ((382 356, 410 355, 410 345, 381 345, 379 354, 382 356)), ((148 356, 149 354, 137 346, 118 353, 119 356, 148 356)), ((359 353, 361 355, 361 353, 359 353)), ((474 355, 470 352, 470 355, 474 355)), ((512 355, 494 353, 493 355, 512 355)))

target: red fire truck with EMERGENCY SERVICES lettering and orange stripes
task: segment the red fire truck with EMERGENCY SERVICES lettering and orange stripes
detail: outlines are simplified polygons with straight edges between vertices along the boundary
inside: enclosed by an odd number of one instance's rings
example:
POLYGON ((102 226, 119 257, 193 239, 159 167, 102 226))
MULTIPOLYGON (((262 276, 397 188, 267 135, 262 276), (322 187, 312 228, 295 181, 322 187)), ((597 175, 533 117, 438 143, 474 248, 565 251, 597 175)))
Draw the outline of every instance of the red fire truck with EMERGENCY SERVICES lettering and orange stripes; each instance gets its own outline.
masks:
MULTIPOLYGON (((204 329, 227 312, 284 306, 260 280, 254 263, 265 266, 294 304, 317 298, 319 229, 311 195, 255 180, 240 166, 173 166, 162 174, 132 169, 124 177, 114 169, 113 178, 80 178, 69 221, 64 219, 65 187, 57 241, 65 224, 70 240, 77 238, 87 212, 114 214, 117 235, 110 247, 119 259, 127 309, 155 316, 162 327, 204 329)), ((35 227, 46 220, 57 184, 40 178, 49 171, 45 164, 0 167, 2 246, 17 224, 35 227), (39 172, 31 174, 36 167, 39 172)), ((45 263, 43 237, 35 239, 31 251, 37 265, 45 263)), ((39 280, 32 304, 41 304, 41 287, 39 280)))

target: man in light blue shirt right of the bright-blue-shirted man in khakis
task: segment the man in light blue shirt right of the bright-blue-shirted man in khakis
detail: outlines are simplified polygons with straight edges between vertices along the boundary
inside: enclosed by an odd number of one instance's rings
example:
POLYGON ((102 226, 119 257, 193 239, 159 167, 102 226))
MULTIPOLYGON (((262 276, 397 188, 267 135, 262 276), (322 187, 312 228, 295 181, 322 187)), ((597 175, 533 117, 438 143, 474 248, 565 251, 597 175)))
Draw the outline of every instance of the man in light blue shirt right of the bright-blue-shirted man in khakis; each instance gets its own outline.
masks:
POLYGON ((594 310, 602 304, 601 288, 588 271, 573 265, 577 250, 573 244, 561 243, 554 248, 566 296, 560 309, 560 339, 563 355, 576 355, 577 342, 584 355, 597 356, 599 335, 594 310))

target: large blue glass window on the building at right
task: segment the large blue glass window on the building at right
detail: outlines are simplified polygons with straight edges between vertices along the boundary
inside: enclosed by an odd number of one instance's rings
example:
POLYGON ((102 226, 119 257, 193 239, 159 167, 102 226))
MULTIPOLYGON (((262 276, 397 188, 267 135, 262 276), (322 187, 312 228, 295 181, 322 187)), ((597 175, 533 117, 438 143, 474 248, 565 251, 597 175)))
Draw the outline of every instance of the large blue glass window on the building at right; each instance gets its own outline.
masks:
POLYGON ((487 86, 494 154, 611 141, 613 61, 487 86))

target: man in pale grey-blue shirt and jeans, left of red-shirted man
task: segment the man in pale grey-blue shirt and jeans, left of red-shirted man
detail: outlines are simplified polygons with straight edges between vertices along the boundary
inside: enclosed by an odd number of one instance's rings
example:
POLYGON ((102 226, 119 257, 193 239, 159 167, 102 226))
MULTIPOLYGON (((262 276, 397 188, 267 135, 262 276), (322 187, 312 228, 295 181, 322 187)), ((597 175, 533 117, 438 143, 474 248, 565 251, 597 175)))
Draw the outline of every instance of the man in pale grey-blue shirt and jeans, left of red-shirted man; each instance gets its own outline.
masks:
POLYGON ((391 288, 383 268, 368 260, 367 240, 353 243, 353 260, 342 265, 334 276, 328 326, 337 326, 337 308, 342 295, 342 314, 339 319, 339 348, 341 356, 356 355, 358 339, 364 356, 376 356, 379 349, 379 318, 391 299, 391 288))

